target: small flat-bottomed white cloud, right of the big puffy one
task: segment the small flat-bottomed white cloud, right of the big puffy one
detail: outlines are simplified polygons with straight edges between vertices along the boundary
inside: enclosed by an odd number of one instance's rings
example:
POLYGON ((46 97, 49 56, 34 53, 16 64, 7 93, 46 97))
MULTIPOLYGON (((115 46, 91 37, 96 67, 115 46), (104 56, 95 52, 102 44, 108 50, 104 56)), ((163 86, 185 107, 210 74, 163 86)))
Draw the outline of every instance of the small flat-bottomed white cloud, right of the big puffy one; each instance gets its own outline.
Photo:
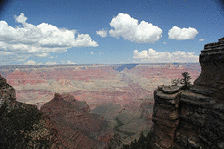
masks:
POLYGON ((198 31, 195 28, 179 28, 178 26, 173 26, 169 32, 169 39, 176 39, 176 40, 186 40, 186 39, 194 39, 198 31))

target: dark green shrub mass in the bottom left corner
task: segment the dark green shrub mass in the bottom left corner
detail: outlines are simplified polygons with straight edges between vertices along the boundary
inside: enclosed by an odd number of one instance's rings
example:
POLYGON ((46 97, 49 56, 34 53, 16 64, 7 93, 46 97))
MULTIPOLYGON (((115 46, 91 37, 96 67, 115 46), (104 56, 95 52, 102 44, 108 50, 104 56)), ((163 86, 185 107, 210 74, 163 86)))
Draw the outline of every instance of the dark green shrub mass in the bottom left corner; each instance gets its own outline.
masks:
POLYGON ((34 106, 6 102, 0 107, 1 148, 50 148, 55 133, 46 127, 45 117, 34 106))

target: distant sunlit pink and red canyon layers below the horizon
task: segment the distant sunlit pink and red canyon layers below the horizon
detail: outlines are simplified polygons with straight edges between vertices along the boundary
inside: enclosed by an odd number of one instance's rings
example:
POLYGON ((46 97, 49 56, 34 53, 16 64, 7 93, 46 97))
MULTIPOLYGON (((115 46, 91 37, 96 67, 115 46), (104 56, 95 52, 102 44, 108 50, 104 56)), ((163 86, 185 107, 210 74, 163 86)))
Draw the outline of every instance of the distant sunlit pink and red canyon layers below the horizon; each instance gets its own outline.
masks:
POLYGON ((16 90, 16 99, 39 108, 55 92, 68 92, 76 100, 86 101, 90 109, 108 103, 139 106, 142 99, 153 101, 153 90, 158 85, 169 84, 185 71, 193 81, 200 74, 200 66, 198 63, 138 64, 129 69, 125 65, 0 66, 2 76, 16 90))

